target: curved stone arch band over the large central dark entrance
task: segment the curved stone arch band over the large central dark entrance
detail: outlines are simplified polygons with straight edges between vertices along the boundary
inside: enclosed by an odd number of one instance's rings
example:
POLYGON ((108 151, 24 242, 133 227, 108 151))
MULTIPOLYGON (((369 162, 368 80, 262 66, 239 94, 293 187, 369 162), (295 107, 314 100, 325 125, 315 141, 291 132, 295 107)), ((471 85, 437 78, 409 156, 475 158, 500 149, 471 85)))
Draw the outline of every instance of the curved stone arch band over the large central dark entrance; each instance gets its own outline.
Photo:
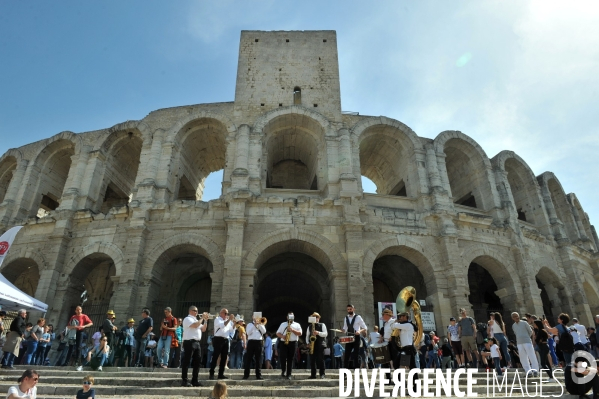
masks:
POLYGON ((252 245, 243 260, 243 267, 247 269, 257 269, 256 265, 264 262, 272 256, 267 252, 269 247, 281 242, 305 242, 311 245, 314 253, 307 253, 319 261, 327 270, 329 275, 333 271, 343 271, 346 261, 339 248, 326 237, 303 228, 279 229, 263 236, 258 242, 252 245))

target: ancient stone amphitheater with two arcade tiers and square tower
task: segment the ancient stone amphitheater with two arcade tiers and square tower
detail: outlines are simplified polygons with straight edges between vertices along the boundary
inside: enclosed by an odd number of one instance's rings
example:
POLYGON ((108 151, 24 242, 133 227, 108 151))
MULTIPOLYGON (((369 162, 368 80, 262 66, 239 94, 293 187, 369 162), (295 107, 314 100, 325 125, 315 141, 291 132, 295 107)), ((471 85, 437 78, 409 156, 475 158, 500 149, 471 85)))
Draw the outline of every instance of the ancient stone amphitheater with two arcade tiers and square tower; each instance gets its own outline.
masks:
POLYGON ((338 328, 347 303, 373 326, 407 285, 441 331, 460 307, 599 313, 599 240, 576 195, 459 131, 343 112, 334 31, 243 31, 234 101, 8 150, 0 231, 14 225, 0 271, 55 326, 83 291, 98 322, 193 303, 262 311, 271 330, 288 310, 338 328))

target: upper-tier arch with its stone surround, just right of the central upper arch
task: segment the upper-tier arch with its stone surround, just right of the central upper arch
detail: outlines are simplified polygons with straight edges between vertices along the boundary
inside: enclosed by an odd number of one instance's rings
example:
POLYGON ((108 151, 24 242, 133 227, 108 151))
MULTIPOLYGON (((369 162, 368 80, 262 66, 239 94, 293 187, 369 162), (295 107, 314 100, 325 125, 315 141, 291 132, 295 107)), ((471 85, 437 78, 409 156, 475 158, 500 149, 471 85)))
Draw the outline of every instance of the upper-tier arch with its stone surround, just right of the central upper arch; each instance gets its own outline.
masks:
POLYGON ((358 150, 360 175, 369 178, 377 193, 416 197, 419 187, 416 151, 424 151, 416 133, 403 123, 384 117, 368 118, 352 130, 358 150))

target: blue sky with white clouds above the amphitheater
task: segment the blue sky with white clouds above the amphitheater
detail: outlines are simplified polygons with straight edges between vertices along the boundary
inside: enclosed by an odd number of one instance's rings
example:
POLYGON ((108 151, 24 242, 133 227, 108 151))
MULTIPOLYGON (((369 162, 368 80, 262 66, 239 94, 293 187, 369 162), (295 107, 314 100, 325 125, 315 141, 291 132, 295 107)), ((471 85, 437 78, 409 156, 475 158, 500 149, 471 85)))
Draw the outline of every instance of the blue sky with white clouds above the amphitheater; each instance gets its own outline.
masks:
POLYGON ((513 150, 554 172, 593 223, 598 26, 596 1, 3 1, 0 154, 232 101, 243 29, 334 29, 343 110, 429 138, 461 130, 489 157, 513 150))

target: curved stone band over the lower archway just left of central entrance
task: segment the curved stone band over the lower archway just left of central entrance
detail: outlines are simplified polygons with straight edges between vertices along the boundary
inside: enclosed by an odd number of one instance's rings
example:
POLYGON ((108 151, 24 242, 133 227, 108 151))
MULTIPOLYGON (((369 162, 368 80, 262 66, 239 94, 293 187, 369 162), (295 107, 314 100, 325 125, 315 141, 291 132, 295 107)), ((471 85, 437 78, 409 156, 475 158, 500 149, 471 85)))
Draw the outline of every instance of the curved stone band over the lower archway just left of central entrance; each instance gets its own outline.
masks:
POLYGON ((210 238, 198 233, 176 234, 154 247, 148 254, 143 264, 141 275, 145 279, 159 278, 164 271, 164 266, 173 259, 174 255, 168 250, 181 245, 190 245, 198 249, 198 252, 212 262, 214 273, 222 275, 225 259, 219 246, 210 238), (158 261, 162 265, 158 265, 158 261), (158 265, 158 268, 156 268, 158 265))

